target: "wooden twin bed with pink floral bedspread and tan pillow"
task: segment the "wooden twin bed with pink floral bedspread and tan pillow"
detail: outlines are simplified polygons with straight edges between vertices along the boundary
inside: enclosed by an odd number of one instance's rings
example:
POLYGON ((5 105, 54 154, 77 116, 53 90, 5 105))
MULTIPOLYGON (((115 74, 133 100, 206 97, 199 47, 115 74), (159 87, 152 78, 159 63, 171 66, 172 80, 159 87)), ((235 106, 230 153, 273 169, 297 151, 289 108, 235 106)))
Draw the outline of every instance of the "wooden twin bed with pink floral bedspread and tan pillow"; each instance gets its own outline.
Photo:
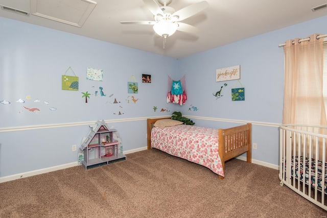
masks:
POLYGON ((148 119, 148 149, 159 149, 203 165, 220 179, 225 177, 227 160, 246 152, 247 162, 251 163, 251 124, 211 129, 178 124, 176 121, 171 117, 148 119), (157 127, 154 126, 156 122, 157 127))

